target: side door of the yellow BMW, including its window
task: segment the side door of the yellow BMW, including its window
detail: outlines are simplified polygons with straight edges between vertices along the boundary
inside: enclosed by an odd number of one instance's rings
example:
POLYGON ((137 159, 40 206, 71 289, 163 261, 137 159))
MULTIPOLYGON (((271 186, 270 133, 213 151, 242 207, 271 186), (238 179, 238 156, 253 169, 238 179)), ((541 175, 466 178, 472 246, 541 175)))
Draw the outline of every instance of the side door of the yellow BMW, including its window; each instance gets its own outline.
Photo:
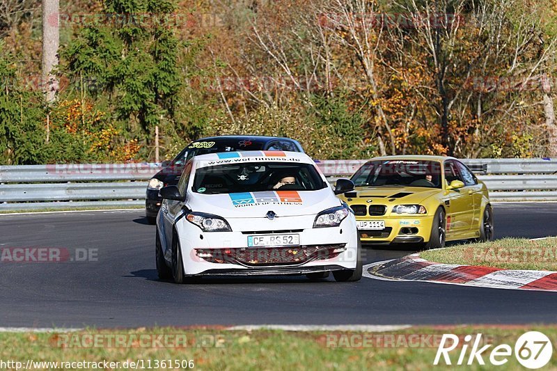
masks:
POLYGON ((448 159, 444 162, 445 175, 445 209, 447 214, 447 235, 469 232, 473 220, 473 191, 466 186, 457 166, 457 161, 448 159), (460 188, 448 189, 454 181, 462 182, 460 188), (464 186, 464 187, 462 187, 464 186))

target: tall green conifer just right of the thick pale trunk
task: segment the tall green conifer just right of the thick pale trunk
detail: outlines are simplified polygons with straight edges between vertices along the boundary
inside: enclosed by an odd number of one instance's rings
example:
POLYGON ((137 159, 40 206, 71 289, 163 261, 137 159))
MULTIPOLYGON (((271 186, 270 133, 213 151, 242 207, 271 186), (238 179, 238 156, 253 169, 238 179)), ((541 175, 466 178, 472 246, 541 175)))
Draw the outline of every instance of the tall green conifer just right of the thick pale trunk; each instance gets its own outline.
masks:
POLYGON ((97 81, 95 97, 108 99, 126 131, 150 143, 162 118, 173 122, 179 45, 166 24, 173 1, 107 0, 102 22, 84 28, 63 55, 74 79, 97 81))

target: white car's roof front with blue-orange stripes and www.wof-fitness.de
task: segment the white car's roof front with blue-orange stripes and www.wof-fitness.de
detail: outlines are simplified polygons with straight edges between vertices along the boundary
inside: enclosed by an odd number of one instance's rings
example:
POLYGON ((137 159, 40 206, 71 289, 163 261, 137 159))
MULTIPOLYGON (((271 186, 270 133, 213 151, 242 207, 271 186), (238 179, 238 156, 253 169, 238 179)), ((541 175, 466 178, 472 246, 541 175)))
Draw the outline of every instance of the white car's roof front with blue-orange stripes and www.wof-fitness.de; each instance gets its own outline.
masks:
POLYGON ((288 160, 297 159, 298 163, 301 164, 313 164, 315 161, 311 159, 304 152, 288 152, 288 151, 231 151, 231 152, 217 152, 208 153, 207 155, 198 155, 191 159, 194 162, 194 167, 198 168, 201 163, 209 162, 210 164, 203 164, 203 166, 209 165, 224 165, 224 164, 234 164, 245 163, 245 162, 258 162, 267 159, 276 159, 277 161, 288 162, 288 160), (230 160, 230 161, 226 161, 230 160), (214 162, 214 164, 211 164, 214 162))

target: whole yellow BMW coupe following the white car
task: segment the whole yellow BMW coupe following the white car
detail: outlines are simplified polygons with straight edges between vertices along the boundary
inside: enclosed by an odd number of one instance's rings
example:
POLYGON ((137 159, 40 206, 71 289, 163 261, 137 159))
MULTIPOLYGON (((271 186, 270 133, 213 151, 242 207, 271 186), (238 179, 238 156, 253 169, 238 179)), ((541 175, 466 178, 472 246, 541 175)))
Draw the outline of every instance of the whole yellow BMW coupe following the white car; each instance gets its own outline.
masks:
POLYGON ((445 246, 493 239, 487 187, 453 157, 375 157, 351 177, 350 205, 363 244, 445 246))

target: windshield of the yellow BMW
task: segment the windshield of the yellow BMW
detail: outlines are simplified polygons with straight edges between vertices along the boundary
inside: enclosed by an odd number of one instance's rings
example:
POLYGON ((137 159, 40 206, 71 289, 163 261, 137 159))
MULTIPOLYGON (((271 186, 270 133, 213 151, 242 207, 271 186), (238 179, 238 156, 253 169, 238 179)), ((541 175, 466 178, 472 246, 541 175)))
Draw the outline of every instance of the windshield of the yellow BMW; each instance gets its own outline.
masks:
POLYGON ((352 176, 356 187, 441 188, 441 163, 422 160, 379 160, 363 165, 352 176))

